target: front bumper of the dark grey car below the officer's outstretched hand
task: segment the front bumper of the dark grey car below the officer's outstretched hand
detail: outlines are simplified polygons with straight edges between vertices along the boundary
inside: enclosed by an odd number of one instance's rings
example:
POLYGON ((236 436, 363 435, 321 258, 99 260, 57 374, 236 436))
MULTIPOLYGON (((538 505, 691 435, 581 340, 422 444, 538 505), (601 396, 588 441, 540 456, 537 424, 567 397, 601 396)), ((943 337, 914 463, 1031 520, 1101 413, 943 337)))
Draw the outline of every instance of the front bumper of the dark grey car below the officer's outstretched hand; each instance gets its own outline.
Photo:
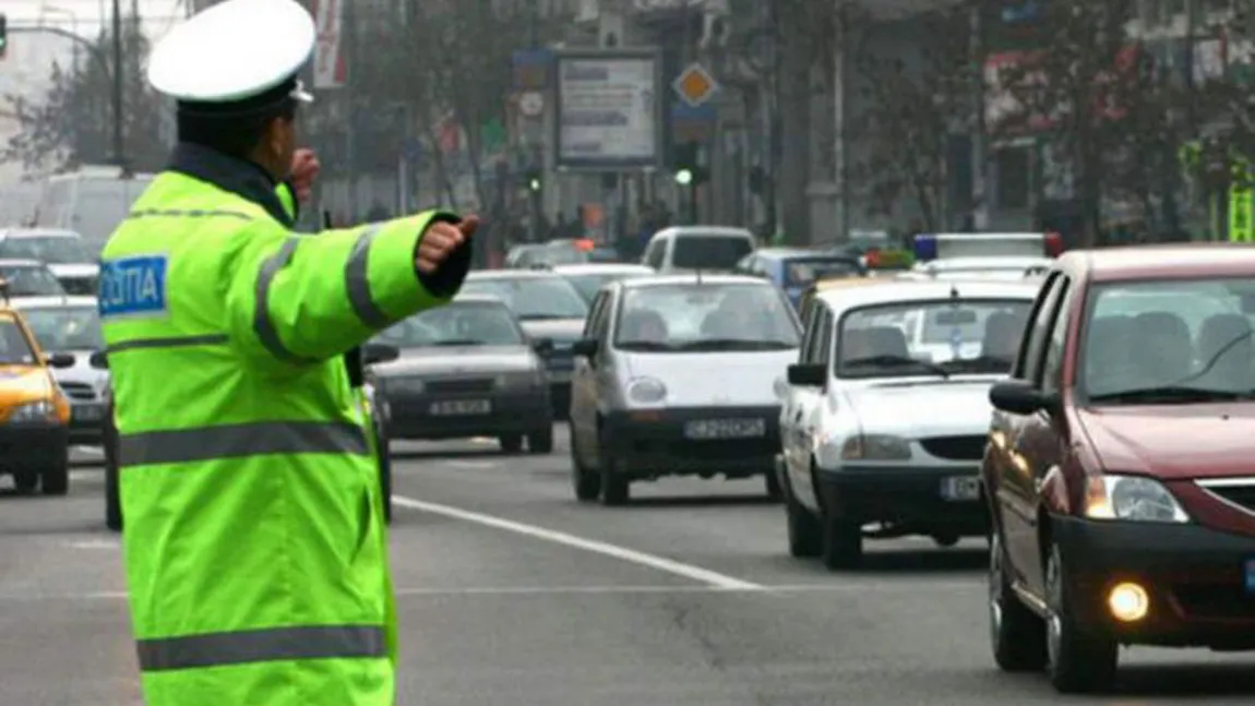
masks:
POLYGON ((545 387, 489 395, 394 395, 388 394, 390 439, 466 439, 527 434, 547 429, 553 410, 545 387), (435 414, 433 405, 487 400, 489 410, 474 414, 435 414))

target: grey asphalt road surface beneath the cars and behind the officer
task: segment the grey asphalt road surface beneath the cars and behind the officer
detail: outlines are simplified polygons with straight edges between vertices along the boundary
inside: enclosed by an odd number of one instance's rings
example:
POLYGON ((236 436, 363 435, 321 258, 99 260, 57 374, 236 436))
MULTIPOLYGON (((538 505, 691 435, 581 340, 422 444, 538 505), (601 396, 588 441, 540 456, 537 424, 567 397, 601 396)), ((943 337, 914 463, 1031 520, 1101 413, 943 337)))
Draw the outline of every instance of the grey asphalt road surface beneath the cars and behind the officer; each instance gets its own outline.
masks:
MULTIPOLYGON (((402 706, 1030 705, 994 670, 983 545, 872 545, 830 574, 786 553, 761 483, 661 482, 575 503, 547 456, 405 446, 393 568, 402 706)), ((6 482, 4 482, 6 483, 6 482)), ((8 488, 8 485, 5 485, 8 488)), ((98 470, 69 498, 0 495, 0 706, 134 706, 117 540, 98 470)), ((1245 655, 1132 650, 1118 692, 1071 703, 1251 703, 1245 655)))

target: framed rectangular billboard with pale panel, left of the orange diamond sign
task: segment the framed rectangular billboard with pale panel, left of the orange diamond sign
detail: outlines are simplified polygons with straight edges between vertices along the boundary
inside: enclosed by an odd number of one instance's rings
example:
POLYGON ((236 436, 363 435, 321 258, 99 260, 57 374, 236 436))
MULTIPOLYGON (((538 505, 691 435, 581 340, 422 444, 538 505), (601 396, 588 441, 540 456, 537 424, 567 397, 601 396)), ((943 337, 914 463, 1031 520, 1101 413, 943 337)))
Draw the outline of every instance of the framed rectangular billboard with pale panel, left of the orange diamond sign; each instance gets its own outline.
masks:
POLYGON ((661 166, 663 60, 656 50, 565 50, 555 54, 553 69, 560 169, 661 166))

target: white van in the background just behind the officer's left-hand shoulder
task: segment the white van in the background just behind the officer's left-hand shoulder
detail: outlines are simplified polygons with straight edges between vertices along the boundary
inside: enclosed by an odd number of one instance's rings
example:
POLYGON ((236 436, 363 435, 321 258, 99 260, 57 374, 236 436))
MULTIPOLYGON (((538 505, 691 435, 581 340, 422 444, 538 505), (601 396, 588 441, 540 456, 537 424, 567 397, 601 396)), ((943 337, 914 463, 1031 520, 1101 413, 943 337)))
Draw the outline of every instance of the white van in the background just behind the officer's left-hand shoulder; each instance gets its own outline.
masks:
POLYGON ((49 177, 36 224, 78 233, 97 257, 152 179, 152 174, 125 177, 118 167, 84 167, 49 177))

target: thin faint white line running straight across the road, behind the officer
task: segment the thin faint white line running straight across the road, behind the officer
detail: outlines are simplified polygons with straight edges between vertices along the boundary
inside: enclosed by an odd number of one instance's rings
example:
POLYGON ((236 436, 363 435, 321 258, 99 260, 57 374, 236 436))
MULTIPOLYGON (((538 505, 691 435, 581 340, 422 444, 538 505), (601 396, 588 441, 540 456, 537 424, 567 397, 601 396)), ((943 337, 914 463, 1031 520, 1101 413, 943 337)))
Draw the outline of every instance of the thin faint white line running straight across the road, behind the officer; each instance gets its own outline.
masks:
MULTIPOLYGON (((930 581, 929 591, 970 592, 984 582, 930 581)), ((407 596, 614 596, 614 594, 668 594, 668 593, 753 593, 756 596, 789 593, 867 593, 902 591, 916 594, 917 582, 842 582, 842 583, 799 583, 792 586, 761 586, 756 588, 723 588, 718 586, 520 586, 520 587, 467 587, 467 588, 397 588, 398 597, 407 596)), ((4 593, 3 601, 125 601, 125 591, 94 591, 88 593, 4 593)))

